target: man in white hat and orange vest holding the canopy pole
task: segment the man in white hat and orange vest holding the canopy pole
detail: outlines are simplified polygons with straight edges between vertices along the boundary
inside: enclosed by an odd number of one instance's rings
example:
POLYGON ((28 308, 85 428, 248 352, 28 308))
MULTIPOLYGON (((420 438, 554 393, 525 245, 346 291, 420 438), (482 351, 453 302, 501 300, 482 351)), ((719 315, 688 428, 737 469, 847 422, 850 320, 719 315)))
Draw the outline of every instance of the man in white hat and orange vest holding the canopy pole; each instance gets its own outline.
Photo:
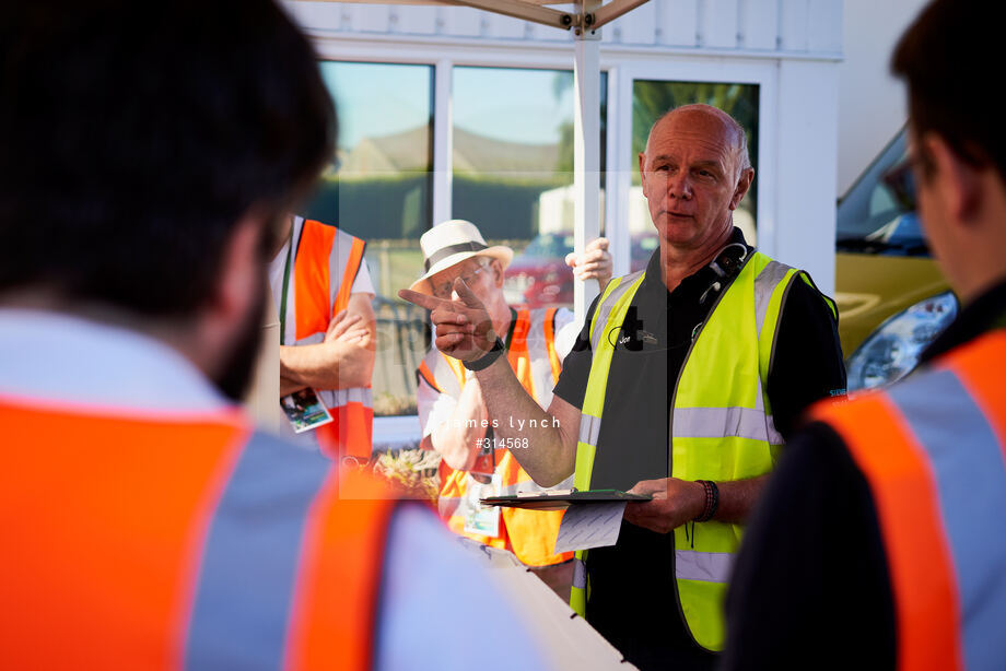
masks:
MULTIPOLYGON (((420 239, 426 272, 410 287, 449 298, 461 278, 486 305, 493 329, 506 334, 507 358, 520 384, 548 408, 562 360, 576 338, 573 314, 564 308, 516 309, 503 296, 503 271, 513 250, 489 246, 475 224, 452 220, 434 226, 420 239)), ((611 276, 608 240, 587 246, 583 259, 571 254, 566 263, 583 279, 596 279, 601 289, 611 276)), ((443 456, 438 509, 452 530, 487 545, 512 551, 546 582, 569 590, 572 553, 552 548, 561 514, 482 508, 484 496, 540 490, 511 454, 518 443, 494 438, 493 426, 508 421, 490 417, 475 376, 461 363, 431 349, 420 365, 417 391, 422 446, 443 456)), ((570 480, 572 483, 572 479, 570 480)), ((562 486, 562 483, 560 485, 562 486)), ((565 595, 563 595, 565 596, 565 595)))

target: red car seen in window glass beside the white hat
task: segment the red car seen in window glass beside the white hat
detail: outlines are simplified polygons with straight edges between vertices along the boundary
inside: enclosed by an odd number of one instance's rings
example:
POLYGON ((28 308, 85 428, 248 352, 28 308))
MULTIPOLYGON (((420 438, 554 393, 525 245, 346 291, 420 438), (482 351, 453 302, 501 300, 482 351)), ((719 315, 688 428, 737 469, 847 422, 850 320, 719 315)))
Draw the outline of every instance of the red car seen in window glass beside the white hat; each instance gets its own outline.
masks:
MULTIPOLYGON (((631 271, 645 268, 657 248, 654 235, 633 235, 631 271)), ((511 305, 551 307, 573 304, 573 269, 565 256, 573 251, 572 233, 542 233, 514 257, 503 280, 503 294, 511 305)))

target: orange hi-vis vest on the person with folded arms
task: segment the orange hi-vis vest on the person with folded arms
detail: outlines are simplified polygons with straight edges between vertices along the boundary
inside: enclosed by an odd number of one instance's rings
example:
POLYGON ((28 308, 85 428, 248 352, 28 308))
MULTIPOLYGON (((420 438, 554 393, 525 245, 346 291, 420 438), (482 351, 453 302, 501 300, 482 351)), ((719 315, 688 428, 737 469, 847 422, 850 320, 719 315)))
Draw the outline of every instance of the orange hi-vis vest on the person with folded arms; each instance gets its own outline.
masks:
MULTIPOLYGON (((317 344, 325 340, 331 318, 349 304, 366 245, 335 226, 312 220, 303 221, 300 235, 291 244, 295 244, 294 291, 286 316, 292 314, 296 323, 293 344, 317 344)), ((369 459, 374 427, 370 386, 317 391, 334 420, 314 429, 321 451, 334 459, 369 459)))

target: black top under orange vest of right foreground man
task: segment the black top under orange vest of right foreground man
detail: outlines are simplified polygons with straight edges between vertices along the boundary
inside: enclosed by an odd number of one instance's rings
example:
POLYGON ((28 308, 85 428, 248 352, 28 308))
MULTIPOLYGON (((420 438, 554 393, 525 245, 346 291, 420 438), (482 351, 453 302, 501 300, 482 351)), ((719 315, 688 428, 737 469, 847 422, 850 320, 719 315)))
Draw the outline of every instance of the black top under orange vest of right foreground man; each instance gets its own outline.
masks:
MULTIPOLYGON (((964 308, 922 363, 1006 328, 1006 283, 964 308)), ((925 557, 920 557, 925 561, 925 557)), ((829 426, 786 446, 727 596, 726 669, 893 669, 894 604, 866 476, 829 426)))

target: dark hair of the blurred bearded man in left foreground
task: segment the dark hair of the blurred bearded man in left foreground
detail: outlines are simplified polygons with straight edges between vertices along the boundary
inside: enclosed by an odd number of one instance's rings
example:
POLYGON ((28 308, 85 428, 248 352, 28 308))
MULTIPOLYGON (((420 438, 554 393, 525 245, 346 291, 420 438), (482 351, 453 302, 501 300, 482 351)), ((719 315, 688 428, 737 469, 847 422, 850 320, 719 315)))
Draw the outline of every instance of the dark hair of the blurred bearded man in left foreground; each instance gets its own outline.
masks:
POLYGON ((191 315, 242 215, 279 216, 332 154, 314 52, 270 0, 4 14, 0 293, 191 315))

